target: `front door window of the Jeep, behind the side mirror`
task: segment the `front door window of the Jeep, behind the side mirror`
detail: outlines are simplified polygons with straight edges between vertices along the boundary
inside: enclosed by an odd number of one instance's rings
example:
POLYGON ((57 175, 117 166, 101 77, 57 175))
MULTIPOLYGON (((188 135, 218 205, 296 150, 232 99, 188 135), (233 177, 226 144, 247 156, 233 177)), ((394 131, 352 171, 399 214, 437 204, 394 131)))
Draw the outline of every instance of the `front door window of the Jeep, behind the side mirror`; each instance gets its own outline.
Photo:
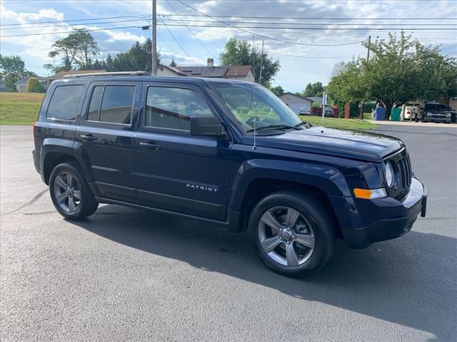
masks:
POLYGON ((190 131, 193 116, 214 116, 196 90, 148 87, 144 118, 146 127, 190 131))

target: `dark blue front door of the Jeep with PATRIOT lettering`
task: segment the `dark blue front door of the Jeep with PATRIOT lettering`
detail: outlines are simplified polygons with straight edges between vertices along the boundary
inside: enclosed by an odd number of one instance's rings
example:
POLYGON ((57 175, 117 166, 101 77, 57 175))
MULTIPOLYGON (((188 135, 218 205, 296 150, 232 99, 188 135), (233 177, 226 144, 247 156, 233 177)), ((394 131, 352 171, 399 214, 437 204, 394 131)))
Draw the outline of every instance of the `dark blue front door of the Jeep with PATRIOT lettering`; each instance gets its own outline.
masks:
POLYGON ((224 220, 231 142, 190 135, 190 119, 216 116, 197 87, 147 83, 135 171, 141 204, 224 220))

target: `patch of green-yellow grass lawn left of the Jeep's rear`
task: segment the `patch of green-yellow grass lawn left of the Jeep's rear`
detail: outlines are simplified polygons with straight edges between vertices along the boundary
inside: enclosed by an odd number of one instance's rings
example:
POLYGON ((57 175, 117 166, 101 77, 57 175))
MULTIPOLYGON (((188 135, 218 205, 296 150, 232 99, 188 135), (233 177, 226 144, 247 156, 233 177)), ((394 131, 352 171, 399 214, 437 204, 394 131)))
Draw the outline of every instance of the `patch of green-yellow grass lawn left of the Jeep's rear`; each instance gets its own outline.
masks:
POLYGON ((32 125, 44 94, 0 93, 0 125, 32 125))

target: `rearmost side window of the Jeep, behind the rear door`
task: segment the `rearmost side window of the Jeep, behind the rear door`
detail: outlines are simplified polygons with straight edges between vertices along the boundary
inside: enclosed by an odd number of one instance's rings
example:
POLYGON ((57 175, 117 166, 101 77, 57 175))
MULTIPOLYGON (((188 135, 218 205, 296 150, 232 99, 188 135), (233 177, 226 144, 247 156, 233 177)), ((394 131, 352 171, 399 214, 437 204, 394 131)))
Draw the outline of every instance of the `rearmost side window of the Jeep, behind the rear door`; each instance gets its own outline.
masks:
POLYGON ((84 86, 58 86, 49 101, 47 118, 75 120, 84 86))

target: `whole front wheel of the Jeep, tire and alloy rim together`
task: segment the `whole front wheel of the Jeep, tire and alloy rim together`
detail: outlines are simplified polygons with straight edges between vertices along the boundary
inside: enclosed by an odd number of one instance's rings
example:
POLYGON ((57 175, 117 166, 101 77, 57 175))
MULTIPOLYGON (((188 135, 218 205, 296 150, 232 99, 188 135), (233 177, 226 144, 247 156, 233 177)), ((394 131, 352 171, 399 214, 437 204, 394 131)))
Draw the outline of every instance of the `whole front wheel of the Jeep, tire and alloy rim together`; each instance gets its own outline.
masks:
POLYGON ((266 266, 286 276, 306 276, 330 259, 332 221, 324 204, 301 192, 276 192, 251 212, 248 232, 266 266))

